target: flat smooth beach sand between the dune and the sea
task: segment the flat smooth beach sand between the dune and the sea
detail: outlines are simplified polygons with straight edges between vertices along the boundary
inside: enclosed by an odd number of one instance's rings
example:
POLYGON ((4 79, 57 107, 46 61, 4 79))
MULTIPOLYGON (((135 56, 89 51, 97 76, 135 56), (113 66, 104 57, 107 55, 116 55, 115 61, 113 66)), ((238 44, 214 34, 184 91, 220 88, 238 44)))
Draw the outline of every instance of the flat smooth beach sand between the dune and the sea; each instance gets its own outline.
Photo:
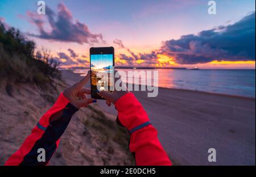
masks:
MULTIPOLYGON (((82 78, 62 72, 69 85, 82 78)), ((170 88, 159 88, 156 98, 133 93, 174 165, 255 165, 255 99, 170 88), (210 148, 216 149, 217 162, 208 162, 210 148)), ((104 100, 98 104, 117 115, 104 100)))

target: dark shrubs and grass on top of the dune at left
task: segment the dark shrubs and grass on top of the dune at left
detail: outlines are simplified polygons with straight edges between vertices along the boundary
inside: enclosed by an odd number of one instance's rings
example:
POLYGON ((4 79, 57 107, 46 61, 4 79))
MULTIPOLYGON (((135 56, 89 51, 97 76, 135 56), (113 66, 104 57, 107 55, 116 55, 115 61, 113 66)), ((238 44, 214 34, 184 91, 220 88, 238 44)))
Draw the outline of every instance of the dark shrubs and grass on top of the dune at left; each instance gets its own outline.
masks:
POLYGON ((34 41, 15 28, 0 22, 0 78, 11 82, 31 82, 39 86, 60 79, 59 65, 46 49, 36 52, 34 41))

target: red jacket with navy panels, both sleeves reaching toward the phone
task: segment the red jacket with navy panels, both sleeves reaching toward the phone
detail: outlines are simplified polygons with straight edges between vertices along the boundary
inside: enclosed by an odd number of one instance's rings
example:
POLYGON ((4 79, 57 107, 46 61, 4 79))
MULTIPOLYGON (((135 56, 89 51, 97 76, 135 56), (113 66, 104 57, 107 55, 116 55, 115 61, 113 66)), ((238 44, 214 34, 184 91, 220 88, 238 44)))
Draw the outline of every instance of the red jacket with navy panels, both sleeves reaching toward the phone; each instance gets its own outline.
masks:
MULTIPOLYGON (((122 96, 115 103, 118 120, 130 132, 130 151, 135 153, 137 165, 171 165, 163 150, 147 113, 132 93, 122 96)), ((5 165, 47 165, 59 145, 61 135, 72 115, 78 111, 67 98, 60 94, 56 103, 39 120, 22 146, 6 161, 5 165), (49 118, 63 111, 61 118, 49 124, 49 118), (46 162, 38 162, 38 149, 46 150, 46 162)))

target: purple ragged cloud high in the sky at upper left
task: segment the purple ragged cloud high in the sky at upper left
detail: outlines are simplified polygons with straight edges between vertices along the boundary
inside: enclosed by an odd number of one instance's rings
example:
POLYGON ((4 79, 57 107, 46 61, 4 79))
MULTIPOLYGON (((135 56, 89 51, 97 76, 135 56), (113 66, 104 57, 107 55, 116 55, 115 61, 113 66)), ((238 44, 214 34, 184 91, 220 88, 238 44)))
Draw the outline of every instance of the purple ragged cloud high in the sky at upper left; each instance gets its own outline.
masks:
POLYGON ((78 20, 74 22, 71 11, 63 3, 59 3, 57 15, 48 6, 46 8, 46 16, 51 32, 45 31, 45 24, 40 15, 32 12, 28 12, 27 15, 30 17, 30 22, 34 23, 39 29, 39 35, 30 34, 32 36, 79 44, 104 42, 101 34, 93 34, 85 24, 78 20))

